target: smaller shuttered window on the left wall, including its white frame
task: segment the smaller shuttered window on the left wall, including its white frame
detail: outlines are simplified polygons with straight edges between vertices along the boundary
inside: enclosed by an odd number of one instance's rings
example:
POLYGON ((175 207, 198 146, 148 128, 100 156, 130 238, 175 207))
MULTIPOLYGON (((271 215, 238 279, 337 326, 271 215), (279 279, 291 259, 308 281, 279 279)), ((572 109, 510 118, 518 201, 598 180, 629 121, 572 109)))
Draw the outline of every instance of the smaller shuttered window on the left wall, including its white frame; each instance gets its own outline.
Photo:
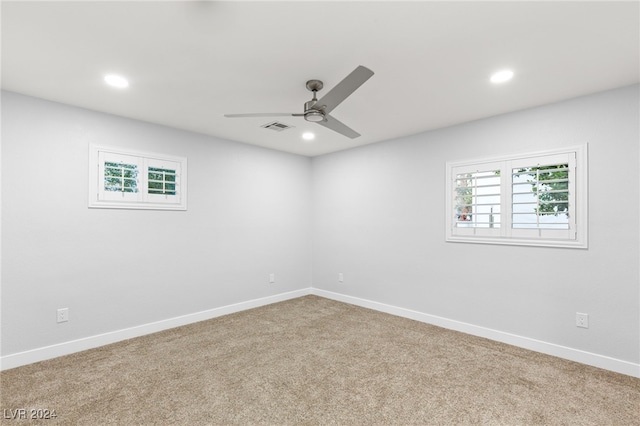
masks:
POLYGON ((187 159, 92 146, 89 207, 186 210, 187 159))

